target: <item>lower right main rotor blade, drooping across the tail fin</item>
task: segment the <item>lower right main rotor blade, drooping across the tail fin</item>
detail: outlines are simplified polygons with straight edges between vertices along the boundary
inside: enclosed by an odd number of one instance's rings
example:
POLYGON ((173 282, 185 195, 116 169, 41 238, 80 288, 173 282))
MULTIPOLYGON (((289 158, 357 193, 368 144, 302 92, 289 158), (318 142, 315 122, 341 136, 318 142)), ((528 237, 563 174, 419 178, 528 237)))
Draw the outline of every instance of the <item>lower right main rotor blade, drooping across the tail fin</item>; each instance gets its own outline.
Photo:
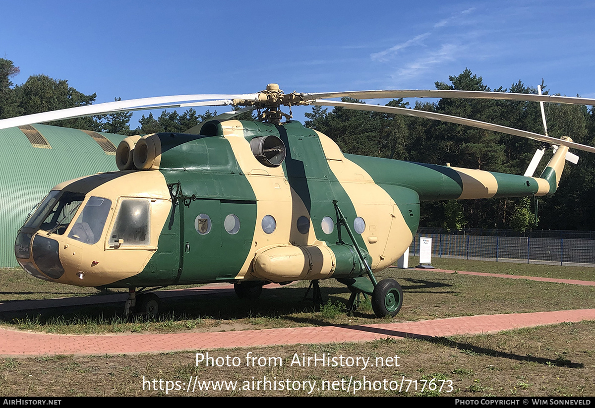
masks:
POLYGON ((322 99, 317 99, 316 101, 311 102, 311 105, 341 106, 345 109, 354 109, 356 111, 384 112, 387 114, 414 116, 418 118, 439 120, 443 122, 456 123, 459 125, 477 127, 480 129, 492 130, 500 133, 512 134, 513 136, 526 137, 527 139, 538 140, 539 142, 549 143, 550 145, 563 145, 571 147, 572 149, 584 150, 585 152, 595 153, 595 147, 592 146, 568 142, 567 140, 556 139, 555 137, 544 136, 543 134, 519 130, 512 127, 481 122, 478 120, 459 118, 456 116, 437 114, 435 112, 417 111, 415 109, 406 108, 396 108, 394 106, 365 105, 364 103, 324 101, 322 99))

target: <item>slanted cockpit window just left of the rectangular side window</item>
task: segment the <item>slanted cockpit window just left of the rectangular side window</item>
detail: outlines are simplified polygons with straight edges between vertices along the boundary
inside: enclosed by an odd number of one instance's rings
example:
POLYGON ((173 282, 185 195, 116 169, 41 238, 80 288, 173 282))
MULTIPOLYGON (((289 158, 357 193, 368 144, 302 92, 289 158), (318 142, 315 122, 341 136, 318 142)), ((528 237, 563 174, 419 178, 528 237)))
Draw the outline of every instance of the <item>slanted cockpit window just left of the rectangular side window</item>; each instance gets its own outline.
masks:
POLYGON ((95 244, 104 231, 105 220, 108 218, 111 201, 101 197, 89 197, 83 212, 79 215, 68 238, 73 238, 85 244, 95 244))

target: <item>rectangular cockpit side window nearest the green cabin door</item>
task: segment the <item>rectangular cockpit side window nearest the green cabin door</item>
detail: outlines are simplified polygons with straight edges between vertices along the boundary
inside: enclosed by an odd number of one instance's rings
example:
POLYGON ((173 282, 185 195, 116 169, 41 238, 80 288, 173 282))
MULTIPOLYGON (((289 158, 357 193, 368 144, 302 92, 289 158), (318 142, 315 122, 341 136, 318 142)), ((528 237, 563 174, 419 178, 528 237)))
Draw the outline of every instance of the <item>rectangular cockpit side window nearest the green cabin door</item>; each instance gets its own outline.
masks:
POLYGON ((150 215, 148 200, 122 200, 109 237, 110 245, 118 243, 120 246, 149 245, 151 243, 150 215))

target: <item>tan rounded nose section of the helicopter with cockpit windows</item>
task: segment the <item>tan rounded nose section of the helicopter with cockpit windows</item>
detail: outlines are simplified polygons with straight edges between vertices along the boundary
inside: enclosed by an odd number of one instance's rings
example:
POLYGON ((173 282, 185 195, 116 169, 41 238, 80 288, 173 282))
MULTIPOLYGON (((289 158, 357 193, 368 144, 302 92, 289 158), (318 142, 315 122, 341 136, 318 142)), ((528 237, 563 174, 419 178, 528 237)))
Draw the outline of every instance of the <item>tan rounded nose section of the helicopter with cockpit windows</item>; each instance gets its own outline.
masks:
POLYGON ((15 240, 15 256, 27 273, 42 280, 112 284, 143 271, 171 206, 158 171, 68 181, 51 190, 27 219, 15 240))

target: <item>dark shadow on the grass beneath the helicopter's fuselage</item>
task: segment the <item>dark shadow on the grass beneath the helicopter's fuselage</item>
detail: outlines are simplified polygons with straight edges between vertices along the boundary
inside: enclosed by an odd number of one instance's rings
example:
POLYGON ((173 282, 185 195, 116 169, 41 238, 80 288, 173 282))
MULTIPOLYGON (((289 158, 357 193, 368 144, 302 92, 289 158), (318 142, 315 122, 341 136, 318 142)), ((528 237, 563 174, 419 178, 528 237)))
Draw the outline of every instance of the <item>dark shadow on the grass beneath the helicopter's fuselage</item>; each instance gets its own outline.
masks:
MULTIPOLYGON (((410 285, 403 287, 405 291, 411 293, 424 292, 436 293, 429 289, 446 288, 452 285, 439 282, 417 280, 412 278, 401 278, 410 285)), ((330 284, 334 284, 332 281, 330 284)), ((347 299, 350 292, 343 285, 323 286, 321 287, 323 300, 322 305, 327 302, 339 305, 347 305, 347 299)), ((188 293, 188 291, 185 291, 188 293)), ((449 293, 441 291, 439 293, 449 293)), ((72 293, 78 294, 78 293, 72 293)), ((159 292, 156 292, 159 295, 159 292)), ((191 296, 168 297, 161 299, 159 319, 161 321, 184 321, 198 319, 217 319, 222 321, 234 321, 239 319, 264 318, 270 319, 268 324, 275 324, 274 320, 287 321, 299 325, 331 325, 333 319, 325 318, 321 313, 315 312, 314 302, 309 297, 304 299, 306 287, 281 287, 265 288, 258 300, 240 300, 237 299, 233 290, 212 290, 205 293, 197 293, 191 296)), ((61 293, 62 295, 62 293, 61 293)), ((85 298, 101 299, 103 293, 88 294, 85 298)), ((20 301, 14 300, 7 303, 23 302, 24 308, 21 310, 0 309, 0 322, 8 325, 20 325, 18 319, 28 319, 40 326, 44 325, 71 325, 81 324, 102 324, 109 325, 114 322, 123 322, 125 293, 112 293, 114 296, 120 296, 122 300, 105 298, 104 303, 74 305, 74 298, 64 299, 63 304, 60 299, 42 299, 20 301), (124 297, 122 297, 124 296, 124 297), (26 305, 25 302, 32 302, 26 305), (57 323, 58 322, 58 323, 57 323)), ((80 296, 76 296, 80 298, 80 296)), ((119 298, 118 298, 119 299, 119 298)), ((343 309, 345 312, 345 308, 343 309)), ((378 322, 374 312, 371 309, 357 309, 350 313, 353 318, 361 318, 378 322)), ((125 320, 125 319, 124 319, 125 320)), ((158 320, 159 321, 159 320, 158 320)), ((22 322, 21 322, 22 323, 22 322)), ((43 329, 40 328, 40 329, 43 329)))

